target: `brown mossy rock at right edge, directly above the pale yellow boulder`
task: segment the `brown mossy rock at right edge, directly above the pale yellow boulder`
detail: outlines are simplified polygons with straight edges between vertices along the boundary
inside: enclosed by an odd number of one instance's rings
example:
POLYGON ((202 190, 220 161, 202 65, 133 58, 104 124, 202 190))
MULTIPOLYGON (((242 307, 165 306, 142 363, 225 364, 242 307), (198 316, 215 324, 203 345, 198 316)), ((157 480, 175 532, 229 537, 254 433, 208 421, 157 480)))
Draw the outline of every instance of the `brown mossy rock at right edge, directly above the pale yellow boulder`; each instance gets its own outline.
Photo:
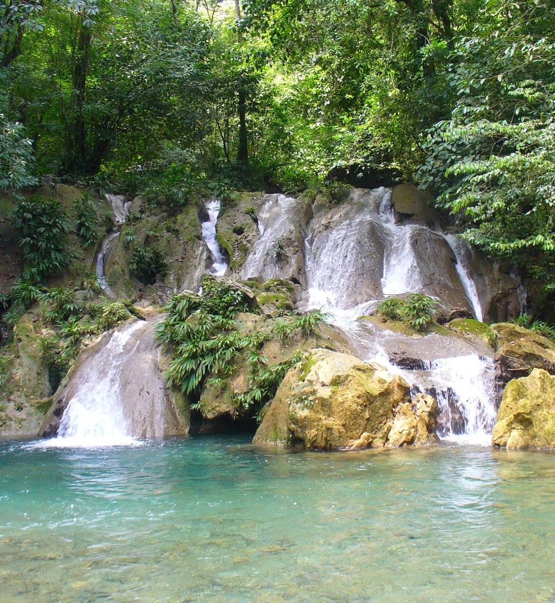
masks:
POLYGON ((492 325, 503 380, 525 377, 533 368, 555 374, 555 344, 551 339, 512 323, 492 325))

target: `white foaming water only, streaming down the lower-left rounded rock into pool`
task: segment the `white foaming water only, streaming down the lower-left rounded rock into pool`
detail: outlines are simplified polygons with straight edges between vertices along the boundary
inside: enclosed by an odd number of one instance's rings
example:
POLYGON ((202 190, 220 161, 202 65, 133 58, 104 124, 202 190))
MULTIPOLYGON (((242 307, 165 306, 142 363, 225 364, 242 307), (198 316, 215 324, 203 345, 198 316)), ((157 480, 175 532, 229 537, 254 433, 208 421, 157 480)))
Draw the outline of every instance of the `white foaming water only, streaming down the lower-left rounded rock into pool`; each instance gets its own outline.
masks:
MULTIPOLYGON (((121 363, 124 355, 133 353, 126 344, 147 323, 136 321, 115 330, 109 341, 78 370, 78 391, 69 400, 56 438, 43 440, 45 447, 137 446, 130 436, 122 402, 121 363)), ((137 344, 135 344, 136 347, 137 344)))

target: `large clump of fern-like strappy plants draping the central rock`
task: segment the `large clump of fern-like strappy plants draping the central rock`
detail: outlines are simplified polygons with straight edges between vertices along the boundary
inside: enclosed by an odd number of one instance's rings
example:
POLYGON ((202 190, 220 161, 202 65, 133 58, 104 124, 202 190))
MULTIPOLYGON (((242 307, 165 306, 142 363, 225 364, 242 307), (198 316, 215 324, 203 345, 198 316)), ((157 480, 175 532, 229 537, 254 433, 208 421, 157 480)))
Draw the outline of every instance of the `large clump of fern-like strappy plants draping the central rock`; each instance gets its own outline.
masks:
POLYGON ((274 338, 290 339, 296 334, 316 334, 325 320, 322 312, 312 312, 289 321, 280 320, 264 333, 241 333, 234 318, 248 309, 247 297, 241 288, 213 276, 203 279, 201 295, 176 295, 165 309, 168 315, 156 336, 174 346, 174 358, 165 374, 168 383, 198 396, 205 379, 211 376, 207 384, 223 388, 235 371, 236 359, 245 354, 249 390, 234 396, 235 404, 244 409, 259 408, 273 397, 285 373, 300 359, 296 354, 279 364, 270 364, 262 355, 264 343, 274 338))

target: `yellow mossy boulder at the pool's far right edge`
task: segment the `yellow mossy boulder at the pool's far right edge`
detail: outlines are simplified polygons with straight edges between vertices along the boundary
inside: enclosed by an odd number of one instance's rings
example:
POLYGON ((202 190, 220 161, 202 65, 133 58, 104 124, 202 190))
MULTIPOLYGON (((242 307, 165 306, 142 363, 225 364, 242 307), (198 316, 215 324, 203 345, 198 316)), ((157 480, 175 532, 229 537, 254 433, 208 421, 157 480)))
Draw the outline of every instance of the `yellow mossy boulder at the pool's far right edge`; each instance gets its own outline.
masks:
POLYGON ((507 448, 555 448, 555 376, 534 368, 503 392, 492 443, 507 448))

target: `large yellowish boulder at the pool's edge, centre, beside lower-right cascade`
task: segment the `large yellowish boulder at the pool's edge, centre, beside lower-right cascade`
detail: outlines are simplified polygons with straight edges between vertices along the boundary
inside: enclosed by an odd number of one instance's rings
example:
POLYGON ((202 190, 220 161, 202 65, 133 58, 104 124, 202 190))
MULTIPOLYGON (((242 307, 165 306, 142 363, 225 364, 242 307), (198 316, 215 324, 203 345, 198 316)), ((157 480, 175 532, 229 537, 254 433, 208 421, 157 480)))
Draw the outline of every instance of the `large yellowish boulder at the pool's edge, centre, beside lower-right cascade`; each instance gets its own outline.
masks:
POLYGON ((329 450, 402 446, 417 435, 420 443, 428 441, 419 418, 434 414, 433 403, 421 403, 418 417, 409 390, 402 377, 377 364, 309 350, 268 403, 253 443, 329 450))

